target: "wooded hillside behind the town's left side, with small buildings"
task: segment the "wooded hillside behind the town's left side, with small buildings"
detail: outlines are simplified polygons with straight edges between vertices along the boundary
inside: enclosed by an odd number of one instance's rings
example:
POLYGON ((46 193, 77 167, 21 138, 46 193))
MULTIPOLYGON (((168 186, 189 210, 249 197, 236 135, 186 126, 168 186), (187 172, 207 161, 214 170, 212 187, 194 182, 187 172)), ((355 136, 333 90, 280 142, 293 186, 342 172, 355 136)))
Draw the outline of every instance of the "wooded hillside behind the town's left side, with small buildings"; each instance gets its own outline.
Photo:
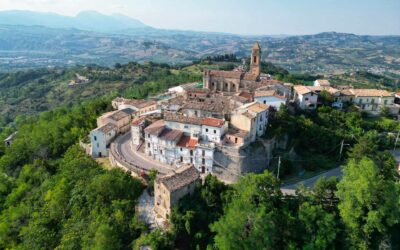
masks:
POLYGON ((0 73, 0 132, 18 115, 31 115, 100 96, 144 98, 170 86, 200 80, 199 74, 155 63, 129 63, 118 68, 77 66, 0 73), (68 86, 75 74, 89 83, 68 86))

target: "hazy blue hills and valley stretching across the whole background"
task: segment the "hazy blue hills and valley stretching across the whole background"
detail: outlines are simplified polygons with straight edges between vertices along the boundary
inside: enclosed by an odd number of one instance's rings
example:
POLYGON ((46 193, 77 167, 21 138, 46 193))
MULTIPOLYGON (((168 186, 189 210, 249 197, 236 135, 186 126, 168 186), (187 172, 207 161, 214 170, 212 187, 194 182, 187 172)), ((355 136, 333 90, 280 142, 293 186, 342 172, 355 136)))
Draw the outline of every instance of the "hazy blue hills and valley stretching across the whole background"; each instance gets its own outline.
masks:
POLYGON ((0 25, 0 70, 88 63, 110 66, 129 61, 186 64, 226 53, 248 57, 256 40, 263 49, 263 60, 292 72, 332 74, 364 70, 400 75, 400 36, 331 32, 269 37, 153 28, 110 34, 4 24, 0 25))

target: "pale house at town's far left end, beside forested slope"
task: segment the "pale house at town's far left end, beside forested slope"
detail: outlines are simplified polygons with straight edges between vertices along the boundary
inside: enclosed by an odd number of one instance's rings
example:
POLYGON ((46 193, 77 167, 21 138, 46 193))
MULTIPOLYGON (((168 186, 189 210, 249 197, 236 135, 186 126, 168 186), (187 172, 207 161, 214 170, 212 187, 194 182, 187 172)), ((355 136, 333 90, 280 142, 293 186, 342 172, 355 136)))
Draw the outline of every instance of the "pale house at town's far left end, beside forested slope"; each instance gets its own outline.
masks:
POLYGON ((118 134, 118 128, 112 123, 96 128, 90 132, 92 157, 108 156, 107 147, 118 134))

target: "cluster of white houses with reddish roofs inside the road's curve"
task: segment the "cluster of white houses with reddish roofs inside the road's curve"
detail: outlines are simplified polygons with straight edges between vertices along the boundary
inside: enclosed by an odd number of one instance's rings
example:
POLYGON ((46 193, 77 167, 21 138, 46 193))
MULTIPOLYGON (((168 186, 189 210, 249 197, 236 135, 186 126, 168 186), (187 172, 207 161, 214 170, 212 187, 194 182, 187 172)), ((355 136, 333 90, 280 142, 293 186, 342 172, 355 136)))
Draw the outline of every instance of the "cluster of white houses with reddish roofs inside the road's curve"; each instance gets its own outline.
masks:
POLYGON ((145 153, 165 164, 193 164, 212 173, 215 143, 222 142, 226 130, 224 120, 166 114, 144 129, 145 153))

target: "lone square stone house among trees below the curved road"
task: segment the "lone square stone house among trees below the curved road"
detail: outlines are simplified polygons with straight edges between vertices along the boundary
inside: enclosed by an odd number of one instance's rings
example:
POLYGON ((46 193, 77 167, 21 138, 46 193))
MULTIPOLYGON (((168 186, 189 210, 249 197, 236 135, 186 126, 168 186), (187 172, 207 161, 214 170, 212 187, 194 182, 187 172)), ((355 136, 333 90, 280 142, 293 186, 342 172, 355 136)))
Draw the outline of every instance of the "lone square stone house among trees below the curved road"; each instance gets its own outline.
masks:
POLYGON ((200 174, 188 164, 154 182, 154 211, 164 219, 169 219, 171 208, 188 194, 193 194, 200 174))

